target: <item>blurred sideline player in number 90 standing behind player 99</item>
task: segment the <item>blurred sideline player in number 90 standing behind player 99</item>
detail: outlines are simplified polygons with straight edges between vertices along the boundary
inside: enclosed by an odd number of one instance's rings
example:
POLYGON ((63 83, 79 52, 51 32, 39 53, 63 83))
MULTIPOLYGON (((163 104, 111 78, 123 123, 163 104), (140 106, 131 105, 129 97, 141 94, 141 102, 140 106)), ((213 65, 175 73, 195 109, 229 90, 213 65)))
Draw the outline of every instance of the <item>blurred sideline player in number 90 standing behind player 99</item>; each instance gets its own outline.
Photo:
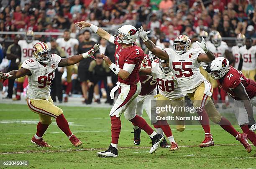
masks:
MULTIPOLYGON (((25 61, 26 59, 32 58, 33 45, 38 42, 39 42, 39 40, 34 40, 34 32, 32 30, 27 31, 25 40, 18 41, 18 45, 20 45, 20 49, 21 49, 21 60, 16 61, 16 62, 20 62, 20 66, 23 63, 23 61, 25 61)), ((21 68, 20 66, 19 66, 19 68, 21 68)), ((23 92, 23 83, 25 81, 25 77, 26 76, 18 78, 16 80, 17 89, 16 89, 16 97, 13 98, 14 101, 20 100, 20 95, 23 92)))

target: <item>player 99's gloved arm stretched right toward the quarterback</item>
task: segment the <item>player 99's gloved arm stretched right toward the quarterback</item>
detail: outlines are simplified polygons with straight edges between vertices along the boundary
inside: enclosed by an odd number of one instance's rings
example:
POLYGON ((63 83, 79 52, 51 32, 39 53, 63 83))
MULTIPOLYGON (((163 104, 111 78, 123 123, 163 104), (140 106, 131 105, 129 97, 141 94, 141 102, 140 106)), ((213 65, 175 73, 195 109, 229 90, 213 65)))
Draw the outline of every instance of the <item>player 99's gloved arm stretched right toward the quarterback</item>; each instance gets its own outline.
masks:
POLYGON ((100 49, 99 44, 95 44, 88 52, 82 53, 79 55, 74 55, 69 58, 62 58, 61 61, 59 62, 59 67, 64 67, 64 66, 70 66, 74 65, 80 61, 82 61, 85 58, 91 57, 95 60, 93 54, 100 49))

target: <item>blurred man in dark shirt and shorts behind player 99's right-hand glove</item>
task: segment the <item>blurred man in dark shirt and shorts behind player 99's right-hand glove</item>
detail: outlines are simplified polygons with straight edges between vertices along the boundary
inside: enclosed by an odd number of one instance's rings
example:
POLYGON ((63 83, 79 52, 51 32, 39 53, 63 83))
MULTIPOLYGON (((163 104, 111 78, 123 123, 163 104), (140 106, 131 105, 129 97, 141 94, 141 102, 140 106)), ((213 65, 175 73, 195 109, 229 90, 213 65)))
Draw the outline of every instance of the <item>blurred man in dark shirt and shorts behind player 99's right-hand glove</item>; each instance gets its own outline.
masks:
MULTIPOLYGON (((80 42, 78 46, 78 50, 77 50, 78 54, 87 52, 96 44, 94 41, 90 40, 90 38, 91 38, 90 30, 85 30, 84 41, 80 42)), ((92 60, 93 60, 92 58, 88 57, 80 61, 78 66, 78 78, 79 78, 79 81, 81 82, 84 103, 88 103, 88 97, 87 97, 87 80, 89 80, 88 69, 90 66, 90 62, 92 60)))

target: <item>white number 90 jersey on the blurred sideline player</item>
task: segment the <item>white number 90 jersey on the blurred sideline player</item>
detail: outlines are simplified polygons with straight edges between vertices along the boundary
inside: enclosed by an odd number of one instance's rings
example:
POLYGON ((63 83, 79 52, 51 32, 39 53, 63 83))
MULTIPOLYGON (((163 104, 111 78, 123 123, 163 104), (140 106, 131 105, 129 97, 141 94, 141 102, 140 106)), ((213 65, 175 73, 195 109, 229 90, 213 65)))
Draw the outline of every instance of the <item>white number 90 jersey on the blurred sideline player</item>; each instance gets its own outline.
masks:
POLYGON ((33 54, 33 46, 38 43, 39 40, 33 40, 31 43, 27 43, 26 40, 19 40, 18 45, 20 45, 21 49, 21 61, 25 61, 26 59, 30 59, 33 54))

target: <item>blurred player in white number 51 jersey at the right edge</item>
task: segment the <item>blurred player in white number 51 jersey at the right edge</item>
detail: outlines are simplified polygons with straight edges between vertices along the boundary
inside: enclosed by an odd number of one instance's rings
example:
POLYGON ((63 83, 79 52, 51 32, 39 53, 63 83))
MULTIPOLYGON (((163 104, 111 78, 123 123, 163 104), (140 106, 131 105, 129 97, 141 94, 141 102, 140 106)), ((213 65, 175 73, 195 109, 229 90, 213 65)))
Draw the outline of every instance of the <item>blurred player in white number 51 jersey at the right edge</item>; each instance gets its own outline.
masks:
POLYGON ((246 38, 245 45, 239 48, 239 52, 243 58, 243 66, 241 72, 244 74, 244 76, 246 76, 246 78, 254 79, 256 74, 256 45, 252 45, 251 38, 246 38))

